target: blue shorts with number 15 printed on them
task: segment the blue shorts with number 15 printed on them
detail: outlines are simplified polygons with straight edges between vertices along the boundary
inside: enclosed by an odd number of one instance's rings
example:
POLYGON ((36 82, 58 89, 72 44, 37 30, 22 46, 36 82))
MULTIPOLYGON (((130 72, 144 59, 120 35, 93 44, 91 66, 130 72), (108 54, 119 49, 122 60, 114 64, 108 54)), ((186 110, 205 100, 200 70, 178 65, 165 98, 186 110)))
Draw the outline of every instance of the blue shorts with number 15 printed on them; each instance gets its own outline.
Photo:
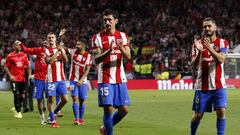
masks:
POLYGON ((125 106, 130 105, 126 83, 98 84, 98 105, 103 106, 125 106))

